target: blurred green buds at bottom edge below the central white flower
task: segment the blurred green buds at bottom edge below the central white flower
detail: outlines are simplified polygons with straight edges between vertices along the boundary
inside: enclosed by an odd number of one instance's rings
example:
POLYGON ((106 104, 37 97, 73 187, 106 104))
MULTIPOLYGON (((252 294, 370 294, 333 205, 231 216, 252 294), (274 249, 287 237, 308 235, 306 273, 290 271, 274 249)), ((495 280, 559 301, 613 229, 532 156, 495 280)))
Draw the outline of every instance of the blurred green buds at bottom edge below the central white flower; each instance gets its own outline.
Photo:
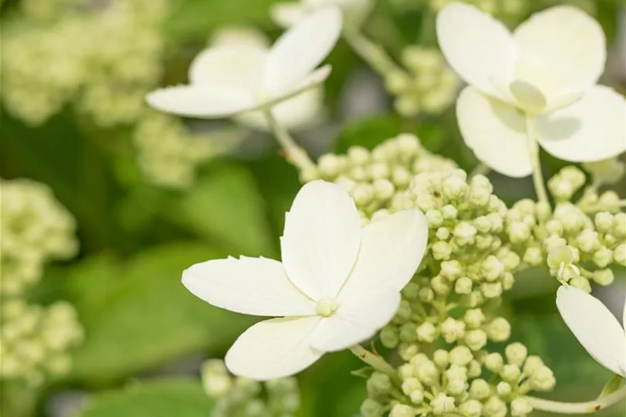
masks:
POLYGON ((223 361, 210 359, 202 365, 202 383, 216 400, 213 417, 290 417, 300 408, 298 381, 293 377, 260 383, 234 377, 223 361))

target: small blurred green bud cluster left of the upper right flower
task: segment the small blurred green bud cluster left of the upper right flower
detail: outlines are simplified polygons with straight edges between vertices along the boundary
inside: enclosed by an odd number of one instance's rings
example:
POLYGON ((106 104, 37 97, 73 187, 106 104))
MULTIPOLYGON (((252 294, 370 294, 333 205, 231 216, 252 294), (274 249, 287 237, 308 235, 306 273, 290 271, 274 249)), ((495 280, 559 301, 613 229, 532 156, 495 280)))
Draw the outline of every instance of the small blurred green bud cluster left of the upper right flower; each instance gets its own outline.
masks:
POLYGON ((407 117, 438 114, 454 102, 459 81, 438 49, 406 47, 401 63, 405 69, 385 74, 385 86, 395 97, 398 113, 407 117))

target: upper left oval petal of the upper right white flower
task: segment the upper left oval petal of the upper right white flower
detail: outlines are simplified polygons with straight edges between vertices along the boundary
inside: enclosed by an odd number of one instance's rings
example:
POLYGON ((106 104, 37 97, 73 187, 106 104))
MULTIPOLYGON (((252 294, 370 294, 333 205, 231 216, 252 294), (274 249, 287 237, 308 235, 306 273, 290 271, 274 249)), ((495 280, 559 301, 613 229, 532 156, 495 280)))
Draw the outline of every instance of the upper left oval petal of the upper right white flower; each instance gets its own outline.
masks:
POLYGON ((437 15, 437 38, 449 65, 465 82, 500 97, 493 78, 511 79, 518 56, 511 33, 502 23, 455 1, 437 15))

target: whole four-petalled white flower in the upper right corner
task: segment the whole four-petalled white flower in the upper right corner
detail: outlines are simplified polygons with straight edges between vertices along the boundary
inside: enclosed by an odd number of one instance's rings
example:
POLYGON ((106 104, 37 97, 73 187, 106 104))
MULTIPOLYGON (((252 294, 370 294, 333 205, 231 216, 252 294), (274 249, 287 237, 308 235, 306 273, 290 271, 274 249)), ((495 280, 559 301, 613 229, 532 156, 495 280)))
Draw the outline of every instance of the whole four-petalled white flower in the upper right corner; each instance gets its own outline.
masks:
POLYGON ((471 5, 450 3, 437 36, 466 87, 460 131, 476 157, 510 177, 532 171, 526 117, 537 141, 566 161, 597 161, 626 149, 626 101, 596 85, 605 35, 590 16, 563 5, 534 14, 511 34, 471 5))

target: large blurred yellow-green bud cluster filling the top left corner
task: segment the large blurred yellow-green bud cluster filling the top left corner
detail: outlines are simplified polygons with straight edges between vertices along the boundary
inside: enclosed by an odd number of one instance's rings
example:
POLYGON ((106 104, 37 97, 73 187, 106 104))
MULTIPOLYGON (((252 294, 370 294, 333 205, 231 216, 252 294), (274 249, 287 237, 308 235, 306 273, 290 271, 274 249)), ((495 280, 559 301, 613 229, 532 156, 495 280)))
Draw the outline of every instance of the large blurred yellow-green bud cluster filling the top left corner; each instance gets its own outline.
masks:
POLYGON ((33 125, 70 102, 99 126, 134 122, 161 77, 166 11, 161 0, 21 2, 3 19, 5 108, 33 125))

